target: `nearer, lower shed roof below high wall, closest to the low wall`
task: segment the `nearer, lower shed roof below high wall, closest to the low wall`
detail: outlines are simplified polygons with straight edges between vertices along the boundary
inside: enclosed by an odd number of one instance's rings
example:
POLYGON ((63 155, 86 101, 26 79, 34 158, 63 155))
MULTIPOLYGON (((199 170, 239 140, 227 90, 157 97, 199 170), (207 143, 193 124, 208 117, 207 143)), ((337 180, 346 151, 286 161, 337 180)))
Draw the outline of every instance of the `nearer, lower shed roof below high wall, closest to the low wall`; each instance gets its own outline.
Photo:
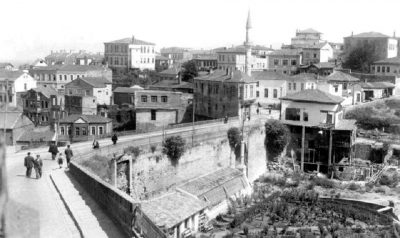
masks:
POLYGON ((161 228, 172 228, 206 208, 206 204, 189 194, 172 192, 140 204, 142 211, 161 228))

